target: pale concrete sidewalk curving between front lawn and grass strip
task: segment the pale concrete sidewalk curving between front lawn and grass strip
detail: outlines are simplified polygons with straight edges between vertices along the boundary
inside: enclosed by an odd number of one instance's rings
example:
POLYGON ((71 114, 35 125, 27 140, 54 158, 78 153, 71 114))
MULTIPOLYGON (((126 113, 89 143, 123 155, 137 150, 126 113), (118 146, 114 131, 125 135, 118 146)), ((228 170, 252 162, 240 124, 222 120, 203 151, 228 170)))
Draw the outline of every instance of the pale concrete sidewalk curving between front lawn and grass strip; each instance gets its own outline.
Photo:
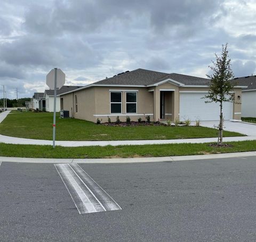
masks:
MULTIPOLYGON (((10 111, 0 114, 0 122, 2 122, 10 111)), ((242 137, 224 137, 224 142, 256 140, 255 136, 242 137)), ((111 141, 55 141, 58 146, 78 147, 78 146, 117 146, 117 145, 156 145, 156 144, 198 144, 216 142, 217 138, 195 138, 195 139, 162 139, 162 140, 111 140, 111 141)), ((19 145, 52 145, 51 140, 41 139, 25 139, 0 135, 0 143, 19 144, 19 145)))

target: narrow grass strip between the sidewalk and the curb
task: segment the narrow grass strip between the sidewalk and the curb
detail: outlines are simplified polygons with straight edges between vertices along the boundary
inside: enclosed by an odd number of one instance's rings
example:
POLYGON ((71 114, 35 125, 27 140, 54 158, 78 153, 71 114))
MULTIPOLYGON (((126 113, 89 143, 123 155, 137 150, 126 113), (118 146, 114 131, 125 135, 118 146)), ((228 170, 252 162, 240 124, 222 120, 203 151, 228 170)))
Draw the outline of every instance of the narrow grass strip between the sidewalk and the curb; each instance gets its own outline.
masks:
POLYGON ((209 144, 127 145, 61 147, 11 145, 0 143, 0 156, 33 158, 116 158, 202 155, 255 151, 256 140, 230 142, 233 147, 211 147, 209 144))

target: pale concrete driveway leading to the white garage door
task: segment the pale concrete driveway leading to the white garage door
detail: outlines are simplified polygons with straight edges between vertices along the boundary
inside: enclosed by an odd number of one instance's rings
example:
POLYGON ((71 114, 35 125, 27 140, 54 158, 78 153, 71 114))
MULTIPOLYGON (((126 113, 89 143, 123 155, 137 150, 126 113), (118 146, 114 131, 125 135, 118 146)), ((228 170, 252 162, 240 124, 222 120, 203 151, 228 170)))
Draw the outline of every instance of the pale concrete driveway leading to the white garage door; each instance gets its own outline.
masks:
MULTIPOLYGON (((219 121, 201 121, 201 126, 214 128, 217 127, 219 121)), ((256 136, 256 125, 241 122, 224 121, 224 130, 243 133, 247 136, 256 136)))

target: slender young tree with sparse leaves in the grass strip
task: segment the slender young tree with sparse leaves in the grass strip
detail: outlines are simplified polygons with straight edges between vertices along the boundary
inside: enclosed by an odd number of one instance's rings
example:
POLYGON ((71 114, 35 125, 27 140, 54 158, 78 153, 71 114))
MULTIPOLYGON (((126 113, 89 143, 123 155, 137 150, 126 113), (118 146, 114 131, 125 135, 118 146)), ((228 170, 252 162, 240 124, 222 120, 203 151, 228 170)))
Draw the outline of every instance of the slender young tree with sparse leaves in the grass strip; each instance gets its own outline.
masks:
POLYGON ((234 82, 230 80, 234 78, 233 71, 231 70, 230 59, 227 51, 228 44, 222 45, 221 56, 218 56, 215 53, 215 62, 212 61, 212 65, 209 68, 212 70, 212 74, 206 75, 211 79, 209 85, 209 92, 205 95, 204 98, 208 100, 205 103, 219 103, 220 105, 220 123, 219 123, 219 138, 218 145, 222 145, 223 137, 223 103, 224 102, 233 102, 234 93, 232 92, 234 82))

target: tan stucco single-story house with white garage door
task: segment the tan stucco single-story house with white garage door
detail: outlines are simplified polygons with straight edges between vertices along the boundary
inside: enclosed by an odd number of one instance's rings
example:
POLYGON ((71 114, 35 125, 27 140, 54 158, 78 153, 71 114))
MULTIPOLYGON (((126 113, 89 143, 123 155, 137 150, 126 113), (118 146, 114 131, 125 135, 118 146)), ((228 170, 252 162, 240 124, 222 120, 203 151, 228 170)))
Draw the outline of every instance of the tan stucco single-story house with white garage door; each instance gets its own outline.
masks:
MULTIPOLYGON (((107 122, 119 116, 137 121, 145 120, 218 120, 219 105, 205 103, 209 79, 177 73, 163 73, 144 69, 126 71, 114 77, 60 94, 63 110, 70 116, 95 122, 107 122)), ((226 120, 241 119, 241 90, 234 88, 235 101, 225 103, 226 120), (238 100, 239 99, 239 100, 238 100)), ((245 86, 244 86, 245 87, 245 86)))

